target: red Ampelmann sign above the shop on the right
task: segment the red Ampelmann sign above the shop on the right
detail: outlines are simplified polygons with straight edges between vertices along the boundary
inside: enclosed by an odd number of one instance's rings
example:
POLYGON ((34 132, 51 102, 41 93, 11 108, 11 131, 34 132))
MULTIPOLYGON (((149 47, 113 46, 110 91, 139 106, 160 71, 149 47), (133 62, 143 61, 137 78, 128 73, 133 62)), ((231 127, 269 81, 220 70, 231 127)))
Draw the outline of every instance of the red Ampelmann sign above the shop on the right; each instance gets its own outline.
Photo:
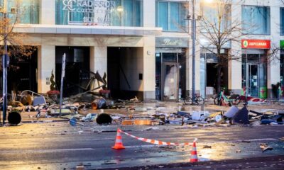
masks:
POLYGON ((271 40, 241 40, 241 48, 269 49, 271 40))

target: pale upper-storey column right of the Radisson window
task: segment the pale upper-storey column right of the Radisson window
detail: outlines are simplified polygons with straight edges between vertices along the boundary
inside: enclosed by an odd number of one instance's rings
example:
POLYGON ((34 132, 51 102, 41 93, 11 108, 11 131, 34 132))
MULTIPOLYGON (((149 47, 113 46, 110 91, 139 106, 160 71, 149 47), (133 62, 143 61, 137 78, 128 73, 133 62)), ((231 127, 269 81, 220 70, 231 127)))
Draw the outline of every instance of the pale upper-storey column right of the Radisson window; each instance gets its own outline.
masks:
POLYGON ((155 27, 155 1, 143 1, 143 26, 155 27))

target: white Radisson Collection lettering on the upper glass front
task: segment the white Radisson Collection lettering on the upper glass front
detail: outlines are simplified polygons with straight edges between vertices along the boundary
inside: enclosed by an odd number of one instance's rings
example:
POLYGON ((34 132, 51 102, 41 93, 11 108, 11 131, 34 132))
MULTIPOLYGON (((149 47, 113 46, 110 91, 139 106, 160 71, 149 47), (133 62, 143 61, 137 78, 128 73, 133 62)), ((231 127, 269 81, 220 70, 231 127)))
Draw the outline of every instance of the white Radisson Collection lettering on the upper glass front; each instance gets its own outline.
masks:
MULTIPOLYGON (((62 10, 84 13, 81 23, 95 23, 99 26, 109 26, 109 14, 112 8, 116 8, 115 1, 108 0, 62 0, 62 4, 62 10)), ((69 23, 72 23, 72 21, 69 23)))

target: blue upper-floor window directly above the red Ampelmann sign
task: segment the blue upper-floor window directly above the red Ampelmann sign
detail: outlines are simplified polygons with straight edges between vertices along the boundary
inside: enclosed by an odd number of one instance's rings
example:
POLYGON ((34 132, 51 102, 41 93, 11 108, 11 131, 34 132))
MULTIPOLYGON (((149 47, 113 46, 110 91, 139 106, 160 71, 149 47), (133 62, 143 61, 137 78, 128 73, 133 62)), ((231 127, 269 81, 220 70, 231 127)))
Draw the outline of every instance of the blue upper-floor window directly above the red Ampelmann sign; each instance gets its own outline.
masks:
POLYGON ((245 34, 270 35, 271 11, 266 6, 242 6, 241 26, 245 34))

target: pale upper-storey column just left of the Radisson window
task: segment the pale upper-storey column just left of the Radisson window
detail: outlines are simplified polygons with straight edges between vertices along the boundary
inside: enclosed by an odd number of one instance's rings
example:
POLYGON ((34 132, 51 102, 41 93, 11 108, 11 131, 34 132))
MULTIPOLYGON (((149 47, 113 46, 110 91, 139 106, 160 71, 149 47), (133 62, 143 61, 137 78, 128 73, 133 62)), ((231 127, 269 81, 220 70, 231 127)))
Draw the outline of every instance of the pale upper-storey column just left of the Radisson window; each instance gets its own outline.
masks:
POLYGON ((40 23, 55 25, 55 0, 40 1, 40 23))

